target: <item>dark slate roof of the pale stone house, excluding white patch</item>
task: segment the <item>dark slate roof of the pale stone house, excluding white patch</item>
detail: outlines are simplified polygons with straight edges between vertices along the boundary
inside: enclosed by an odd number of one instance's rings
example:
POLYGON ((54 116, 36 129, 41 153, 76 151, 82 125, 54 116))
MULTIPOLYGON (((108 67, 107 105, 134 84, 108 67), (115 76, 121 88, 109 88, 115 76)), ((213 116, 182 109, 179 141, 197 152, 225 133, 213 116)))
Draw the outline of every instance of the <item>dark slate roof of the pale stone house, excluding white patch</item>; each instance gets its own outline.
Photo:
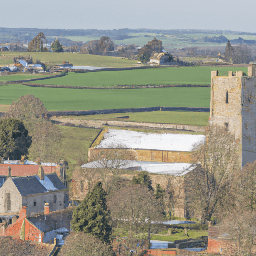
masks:
MULTIPOLYGON (((50 179, 50 181, 53 183, 54 187, 57 188, 57 190, 66 189, 56 173, 46 176, 50 179)), ((35 195, 49 191, 40 183, 40 180, 38 180, 36 176, 12 178, 12 181, 16 185, 21 196, 35 195)))

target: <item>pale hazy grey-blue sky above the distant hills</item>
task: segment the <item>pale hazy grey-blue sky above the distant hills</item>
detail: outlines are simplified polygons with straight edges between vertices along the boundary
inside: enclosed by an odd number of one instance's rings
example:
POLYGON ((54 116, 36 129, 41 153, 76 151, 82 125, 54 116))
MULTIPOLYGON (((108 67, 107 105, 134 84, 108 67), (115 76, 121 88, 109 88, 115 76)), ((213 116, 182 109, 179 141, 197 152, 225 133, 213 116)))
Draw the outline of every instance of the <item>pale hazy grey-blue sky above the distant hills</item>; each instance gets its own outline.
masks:
POLYGON ((256 32, 256 0, 13 0, 4 2, 0 12, 0 27, 220 29, 256 32))

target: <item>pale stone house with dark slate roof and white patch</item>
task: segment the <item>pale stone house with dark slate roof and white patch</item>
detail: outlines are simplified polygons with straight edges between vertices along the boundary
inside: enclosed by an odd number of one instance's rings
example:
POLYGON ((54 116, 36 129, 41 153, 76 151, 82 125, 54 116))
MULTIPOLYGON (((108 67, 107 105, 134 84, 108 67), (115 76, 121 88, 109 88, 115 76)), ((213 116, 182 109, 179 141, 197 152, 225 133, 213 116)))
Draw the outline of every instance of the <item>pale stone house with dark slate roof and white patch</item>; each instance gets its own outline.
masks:
POLYGON ((0 188, 0 213, 17 213, 27 207, 27 216, 44 212, 49 203, 51 211, 68 207, 68 189, 56 173, 45 175, 40 166, 38 175, 9 177, 0 188))

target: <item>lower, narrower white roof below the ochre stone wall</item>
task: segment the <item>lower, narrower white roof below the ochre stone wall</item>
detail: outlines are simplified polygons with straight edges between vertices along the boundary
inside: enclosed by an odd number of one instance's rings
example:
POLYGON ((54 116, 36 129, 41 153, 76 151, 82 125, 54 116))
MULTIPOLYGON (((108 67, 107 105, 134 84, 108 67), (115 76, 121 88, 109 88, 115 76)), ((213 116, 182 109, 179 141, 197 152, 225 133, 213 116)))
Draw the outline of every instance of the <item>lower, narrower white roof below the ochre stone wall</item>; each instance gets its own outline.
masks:
MULTIPOLYGON (((195 169, 198 164, 187 163, 162 163, 162 162, 147 162, 147 161, 131 161, 131 160, 109 160, 114 161, 109 166, 118 169, 147 171, 150 173, 168 174, 174 176, 183 176, 186 173, 195 169), (117 166, 116 166, 117 165, 117 166)), ((102 161, 93 161, 82 165, 83 168, 103 168, 106 164, 105 159, 102 161)))

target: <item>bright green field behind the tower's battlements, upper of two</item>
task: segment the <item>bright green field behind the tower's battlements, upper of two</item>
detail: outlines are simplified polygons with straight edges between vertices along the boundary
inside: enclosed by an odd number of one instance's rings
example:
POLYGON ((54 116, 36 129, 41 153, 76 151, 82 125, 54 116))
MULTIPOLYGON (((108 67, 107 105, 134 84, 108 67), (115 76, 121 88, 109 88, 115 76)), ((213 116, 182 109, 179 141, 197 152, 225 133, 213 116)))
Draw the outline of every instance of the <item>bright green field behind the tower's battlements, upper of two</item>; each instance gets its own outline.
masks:
MULTIPOLYGON (((220 75, 228 71, 242 70, 247 67, 178 67, 151 68, 120 71, 101 71, 90 73, 68 73, 68 76, 43 81, 38 84, 72 85, 86 87, 108 87, 115 85, 161 85, 161 84, 210 84, 211 70, 219 70, 220 75)), ((34 82, 33 82, 34 83, 34 82)))

